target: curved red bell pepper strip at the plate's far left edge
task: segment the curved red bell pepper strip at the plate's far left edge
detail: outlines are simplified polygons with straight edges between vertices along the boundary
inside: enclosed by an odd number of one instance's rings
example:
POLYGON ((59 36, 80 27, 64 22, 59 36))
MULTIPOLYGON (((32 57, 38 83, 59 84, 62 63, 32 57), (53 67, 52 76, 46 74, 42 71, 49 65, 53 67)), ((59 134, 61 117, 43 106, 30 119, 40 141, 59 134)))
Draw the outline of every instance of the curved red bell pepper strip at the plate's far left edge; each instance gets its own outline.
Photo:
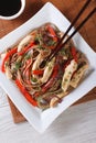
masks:
POLYGON ((4 63, 8 61, 8 58, 11 56, 11 55, 13 55, 14 53, 17 53, 17 47, 14 47, 14 48, 11 48, 8 53, 7 53, 7 55, 6 55, 6 57, 4 57, 4 59, 3 59, 3 62, 2 62, 2 66, 1 66, 1 70, 4 73, 6 72, 6 69, 4 69, 4 63))

